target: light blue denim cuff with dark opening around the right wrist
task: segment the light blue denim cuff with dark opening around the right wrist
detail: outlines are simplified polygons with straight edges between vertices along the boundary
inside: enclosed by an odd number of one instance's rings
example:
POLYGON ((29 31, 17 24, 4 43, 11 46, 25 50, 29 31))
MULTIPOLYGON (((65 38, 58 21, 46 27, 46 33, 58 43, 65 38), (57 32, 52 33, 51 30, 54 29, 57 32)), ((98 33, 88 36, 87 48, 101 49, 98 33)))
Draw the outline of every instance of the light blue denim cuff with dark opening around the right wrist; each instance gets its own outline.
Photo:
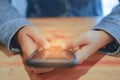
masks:
POLYGON ((112 20, 103 20, 96 25, 93 30, 103 30, 110 34, 115 41, 107 44, 104 48, 99 49, 100 52, 104 52, 109 55, 117 54, 120 51, 120 25, 115 24, 112 20))

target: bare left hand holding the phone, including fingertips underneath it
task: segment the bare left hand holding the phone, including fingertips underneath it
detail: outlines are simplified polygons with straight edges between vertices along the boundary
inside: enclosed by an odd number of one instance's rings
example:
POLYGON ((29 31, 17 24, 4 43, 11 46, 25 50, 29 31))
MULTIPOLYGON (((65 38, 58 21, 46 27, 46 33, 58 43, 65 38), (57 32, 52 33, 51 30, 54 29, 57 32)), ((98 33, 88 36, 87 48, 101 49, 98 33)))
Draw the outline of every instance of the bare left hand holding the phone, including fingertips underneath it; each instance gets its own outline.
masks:
MULTIPOLYGON (((17 34, 17 40, 18 43, 23 51, 23 58, 24 60, 30 56, 35 49, 37 49, 40 46, 43 46, 44 48, 49 47, 49 43, 47 40, 42 36, 39 29, 37 27, 23 27, 19 30, 17 34)), ((33 72, 35 73, 44 73, 52 71, 53 69, 33 69, 33 72)))

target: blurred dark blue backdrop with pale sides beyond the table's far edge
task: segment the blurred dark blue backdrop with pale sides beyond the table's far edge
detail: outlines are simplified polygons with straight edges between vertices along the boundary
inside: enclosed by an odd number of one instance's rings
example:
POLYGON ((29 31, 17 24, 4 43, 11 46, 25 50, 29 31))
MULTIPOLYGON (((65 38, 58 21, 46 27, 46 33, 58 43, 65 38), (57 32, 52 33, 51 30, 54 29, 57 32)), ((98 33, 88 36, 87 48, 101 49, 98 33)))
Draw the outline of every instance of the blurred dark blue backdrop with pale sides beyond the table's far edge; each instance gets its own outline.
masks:
POLYGON ((11 3, 25 17, 78 17, 106 16, 119 0, 12 0, 11 3))

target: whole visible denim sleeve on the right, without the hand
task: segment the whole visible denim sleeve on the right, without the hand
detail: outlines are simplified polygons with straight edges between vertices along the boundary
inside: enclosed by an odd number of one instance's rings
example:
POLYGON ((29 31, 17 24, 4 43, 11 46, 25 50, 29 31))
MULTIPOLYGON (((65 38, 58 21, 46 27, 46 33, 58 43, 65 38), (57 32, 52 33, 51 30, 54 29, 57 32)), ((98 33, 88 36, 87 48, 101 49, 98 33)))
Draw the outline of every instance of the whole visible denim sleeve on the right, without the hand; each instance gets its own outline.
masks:
POLYGON ((120 51, 120 4, 97 24, 94 30, 103 30, 110 34, 114 41, 101 48, 100 51, 113 55, 120 51))

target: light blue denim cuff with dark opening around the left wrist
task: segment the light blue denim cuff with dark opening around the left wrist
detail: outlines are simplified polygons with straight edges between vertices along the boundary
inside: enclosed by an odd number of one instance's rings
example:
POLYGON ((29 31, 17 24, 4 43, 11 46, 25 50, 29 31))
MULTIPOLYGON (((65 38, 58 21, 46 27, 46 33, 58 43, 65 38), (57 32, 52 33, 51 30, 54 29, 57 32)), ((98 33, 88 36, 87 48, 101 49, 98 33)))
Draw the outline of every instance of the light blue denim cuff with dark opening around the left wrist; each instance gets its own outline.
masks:
POLYGON ((31 26, 32 24, 27 19, 21 18, 8 21, 3 25, 1 41, 10 51, 20 52, 20 46, 17 44, 15 34, 19 29, 27 25, 31 26))

